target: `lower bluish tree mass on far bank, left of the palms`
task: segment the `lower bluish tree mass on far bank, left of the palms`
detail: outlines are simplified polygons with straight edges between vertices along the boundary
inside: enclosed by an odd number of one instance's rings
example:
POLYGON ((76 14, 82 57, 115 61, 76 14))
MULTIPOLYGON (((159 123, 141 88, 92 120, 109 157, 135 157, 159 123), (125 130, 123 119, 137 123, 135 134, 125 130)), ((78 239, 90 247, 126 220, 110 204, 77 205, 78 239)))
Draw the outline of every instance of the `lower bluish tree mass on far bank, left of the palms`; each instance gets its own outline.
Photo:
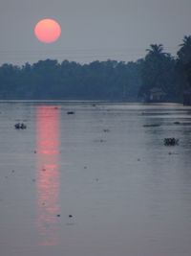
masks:
POLYGON ((40 60, 22 67, 0 67, 1 99, 136 101, 138 63, 94 61, 81 65, 64 60, 40 60))

